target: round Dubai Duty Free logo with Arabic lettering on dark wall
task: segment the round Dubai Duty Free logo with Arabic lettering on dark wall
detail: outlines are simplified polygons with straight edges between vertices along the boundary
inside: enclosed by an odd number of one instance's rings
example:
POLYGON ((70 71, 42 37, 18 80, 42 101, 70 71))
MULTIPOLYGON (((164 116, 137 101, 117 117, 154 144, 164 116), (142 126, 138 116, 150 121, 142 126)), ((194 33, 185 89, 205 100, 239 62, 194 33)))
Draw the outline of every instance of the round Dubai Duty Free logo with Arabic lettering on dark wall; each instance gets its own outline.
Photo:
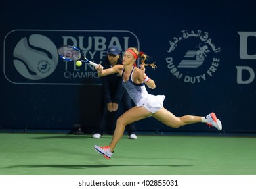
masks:
POLYGON ((182 30, 181 33, 169 40, 167 67, 183 82, 203 82, 217 72, 221 48, 213 43, 208 32, 182 30))

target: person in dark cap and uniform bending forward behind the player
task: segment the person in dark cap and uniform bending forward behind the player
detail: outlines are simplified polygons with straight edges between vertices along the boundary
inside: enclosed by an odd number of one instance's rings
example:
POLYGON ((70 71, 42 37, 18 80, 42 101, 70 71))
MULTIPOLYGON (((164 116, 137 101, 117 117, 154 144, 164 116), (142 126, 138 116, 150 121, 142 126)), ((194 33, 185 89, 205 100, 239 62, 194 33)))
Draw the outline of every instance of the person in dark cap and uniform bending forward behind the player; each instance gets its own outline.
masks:
MULTIPOLYGON (((118 47, 108 47, 107 57, 102 62, 105 69, 112 68, 115 65, 122 65, 122 58, 118 47)), ((123 112, 130 109, 131 97, 122 86, 122 79, 119 74, 111 74, 102 77, 102 97, 103 107, 102 114, 99 117, 99 124, 95 127, 93 138, 100 138, 104 134, 104 131, 112 130, 112 126, 116 125, 116 112, 119 109, 119 105, 123 105, 123 112)), ((122 112, 122 113, 123 113, 122 112)), ((135 134, 135 123, 128 124, 126 126, 128 136, 130 139, 137 139, 135 134)))

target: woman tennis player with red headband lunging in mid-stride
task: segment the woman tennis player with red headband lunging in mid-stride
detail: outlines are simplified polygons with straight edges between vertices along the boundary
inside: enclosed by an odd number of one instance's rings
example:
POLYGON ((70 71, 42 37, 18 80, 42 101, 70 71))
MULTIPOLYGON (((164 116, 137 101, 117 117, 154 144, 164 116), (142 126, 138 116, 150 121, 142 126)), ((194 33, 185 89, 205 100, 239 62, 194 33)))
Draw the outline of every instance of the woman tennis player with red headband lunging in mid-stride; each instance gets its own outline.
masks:
MULTIPOLYGON (((96 67, 98 76, 106 76, 109 74, 118 73, 122 78, 122 84, 133 99, 135 107, 132 107, 123 115, 121 115, 116 121, 116 128, 114 130, 114 135, 109 146, 94 146, 98 153, 102 154, 106 159, 110 159, 114 153, 114 148, 123 136, 125 126, 131 124, 135 121, 145 119, 146 117, 153 116, 158 121, 163 124, 170 126, 172 128, 179 128, 187 124, 194 123, 206 123, 209 126, 213 126, 218 130, 222 130, 222 124, 219 119, 217 119, 215 113, 209 113, 205 117, 194 116, 194 115, 184 115, 182 117, 176 117, 163 107, 163 101, 165 99, 164 95, 152 95, 148 94, 145 84, 148 88, 156 88, 154 80, 149 78, 145 74, 145 63, 147 56, 139 52, 137 48, 128 48, 123 55, 123 65, 115 65, 112 68, 104 69, 102 65, 99 64, 96 67), (133 64, 137 58, 141 58, 139 68, 134 67, 133 64)), ((156 65, 151 64, 154 68, 156 65)))

